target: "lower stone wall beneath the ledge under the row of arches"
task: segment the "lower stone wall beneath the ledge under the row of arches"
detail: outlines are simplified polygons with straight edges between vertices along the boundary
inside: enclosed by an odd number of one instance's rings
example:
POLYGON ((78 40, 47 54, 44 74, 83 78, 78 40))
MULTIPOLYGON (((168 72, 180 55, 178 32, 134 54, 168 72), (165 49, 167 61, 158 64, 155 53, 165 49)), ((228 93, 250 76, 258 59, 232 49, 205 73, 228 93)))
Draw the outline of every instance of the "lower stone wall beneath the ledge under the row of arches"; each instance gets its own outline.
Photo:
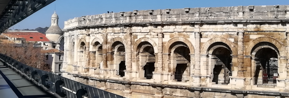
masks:
POLYGON ((256 91, 238 91, 210 87, 188 87, 177 85, 160 85, 154 83, 140 83, 116 80, 88 79, 78 75, 69 75, 70 79, 105 91, 124 96, 128 87, 132 98, 158 98, 158 93, 164 94, 164 98, 285 98, 284 95, 278 95, 276 92, 262 93, 256 91))

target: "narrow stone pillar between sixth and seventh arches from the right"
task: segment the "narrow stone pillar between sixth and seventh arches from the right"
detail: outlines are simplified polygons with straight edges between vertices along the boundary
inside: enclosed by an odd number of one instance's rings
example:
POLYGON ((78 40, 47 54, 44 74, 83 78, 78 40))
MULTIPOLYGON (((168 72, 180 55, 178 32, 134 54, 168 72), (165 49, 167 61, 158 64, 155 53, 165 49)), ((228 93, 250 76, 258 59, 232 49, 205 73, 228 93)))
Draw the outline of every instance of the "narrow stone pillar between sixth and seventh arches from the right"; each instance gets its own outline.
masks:
POLYGON ((85 43, 85 45, 86 45, 86 54, 85 54, 85 57, 86 57, 86 59, 85 59, 85 67, 84 67, 84 72, 85 73, 88 73, 89 72, 89 54, 90 54, 90 52, 89 52, 89 46, 90 46, 90 44, 89 44, 89 40, 90 40, 90 34, 86 34, 86 43, 85 43))

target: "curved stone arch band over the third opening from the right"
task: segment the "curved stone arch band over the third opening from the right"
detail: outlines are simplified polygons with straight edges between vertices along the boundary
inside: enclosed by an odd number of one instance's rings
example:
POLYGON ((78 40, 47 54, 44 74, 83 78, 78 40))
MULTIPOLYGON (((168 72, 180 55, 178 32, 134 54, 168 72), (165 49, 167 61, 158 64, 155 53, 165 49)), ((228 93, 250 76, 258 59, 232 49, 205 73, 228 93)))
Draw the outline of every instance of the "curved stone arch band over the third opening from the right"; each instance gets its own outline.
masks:
POLYGON ((184 42, 188 48, 190 49, 190 53, 194 54, 194 46, 192 45, 192 43, 190 42, 190 40, 184 38, 184 37, 173 37, 170 40, 168 40, 168 42, 166 43, 166 45, 164 46, 164 52, 166 53, 170 53, 171 51, 169 50, 171 44, 173 44, 174 42, 184 42))

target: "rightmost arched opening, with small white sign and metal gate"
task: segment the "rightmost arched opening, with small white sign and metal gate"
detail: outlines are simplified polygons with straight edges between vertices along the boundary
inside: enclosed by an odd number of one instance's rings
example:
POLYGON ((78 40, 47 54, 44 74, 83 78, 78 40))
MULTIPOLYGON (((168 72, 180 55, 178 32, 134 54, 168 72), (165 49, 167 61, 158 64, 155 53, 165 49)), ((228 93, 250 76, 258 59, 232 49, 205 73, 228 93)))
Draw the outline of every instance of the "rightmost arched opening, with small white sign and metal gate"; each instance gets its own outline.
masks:
POLYGON ((278 48, 271 43, 260 42, 251 53, 255 57, 255 85, 277 85, 278 48))

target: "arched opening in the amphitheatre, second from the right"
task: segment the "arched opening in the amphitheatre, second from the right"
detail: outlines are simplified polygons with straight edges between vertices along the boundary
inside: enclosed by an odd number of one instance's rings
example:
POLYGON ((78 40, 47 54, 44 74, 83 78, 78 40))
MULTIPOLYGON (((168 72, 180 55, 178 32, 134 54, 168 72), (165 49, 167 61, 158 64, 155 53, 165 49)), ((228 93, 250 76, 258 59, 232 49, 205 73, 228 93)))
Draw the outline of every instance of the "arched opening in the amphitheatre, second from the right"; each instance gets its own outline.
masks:
POLYGON ((210 54, 211 68, 209 71, 213 74, 212 82, 216 84, 229 84, 229 76, 232 76, 232 51, 230 47, 223 42, 215 42, 208 48, 210 54))

